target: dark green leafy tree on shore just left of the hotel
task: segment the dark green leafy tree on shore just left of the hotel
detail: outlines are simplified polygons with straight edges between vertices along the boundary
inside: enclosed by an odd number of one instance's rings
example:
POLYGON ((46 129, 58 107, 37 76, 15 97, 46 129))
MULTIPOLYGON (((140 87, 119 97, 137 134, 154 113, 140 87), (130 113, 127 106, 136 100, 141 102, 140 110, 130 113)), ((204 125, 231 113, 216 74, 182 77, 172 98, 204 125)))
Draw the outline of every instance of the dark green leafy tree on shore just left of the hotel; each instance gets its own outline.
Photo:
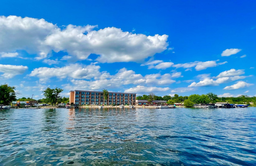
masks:
POLYGON ((55 89, 51 89, 51 88, 46 88, 43 92, 44 92, 44 96, 47 102, 50 102, 51 105, 56 106, 56 102, 58 100, 58 98, 60 98, 60 93, 63 91, 63 89, 60 88, 55 88, 55 89))

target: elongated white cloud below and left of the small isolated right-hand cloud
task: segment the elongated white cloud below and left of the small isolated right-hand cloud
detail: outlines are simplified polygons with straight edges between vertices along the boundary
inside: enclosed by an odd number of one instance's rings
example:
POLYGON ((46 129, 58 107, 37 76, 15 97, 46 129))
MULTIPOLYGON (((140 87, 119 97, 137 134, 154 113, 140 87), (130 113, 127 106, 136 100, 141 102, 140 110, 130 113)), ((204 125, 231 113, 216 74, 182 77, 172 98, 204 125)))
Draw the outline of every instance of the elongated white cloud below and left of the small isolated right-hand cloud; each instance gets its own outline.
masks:
MULTIPOLYGON (((192 68, 192 67, 195 67, 196 71, 200 71, 200 70, 204 70, 204 69, 207 69, 209 67, 216 67, 218 65, 222 65, 222 64, 225 64, 225 63, 228 63, 227 61, 226 62, 221 62, 221 63, 217 63, 217 61, 219 60, 216 60, 216 61, 206 61, 206 62, 201 62, 201 61, 195 61, 195 62, 188 62, 188 63, 185 63, 185 64, 173 64, 172 67, 176 67, 176 68, 180 68, 180 67, 183 67, 183 68, 192 68)), ((186 70, 188 71, 188 70, 186 70)))

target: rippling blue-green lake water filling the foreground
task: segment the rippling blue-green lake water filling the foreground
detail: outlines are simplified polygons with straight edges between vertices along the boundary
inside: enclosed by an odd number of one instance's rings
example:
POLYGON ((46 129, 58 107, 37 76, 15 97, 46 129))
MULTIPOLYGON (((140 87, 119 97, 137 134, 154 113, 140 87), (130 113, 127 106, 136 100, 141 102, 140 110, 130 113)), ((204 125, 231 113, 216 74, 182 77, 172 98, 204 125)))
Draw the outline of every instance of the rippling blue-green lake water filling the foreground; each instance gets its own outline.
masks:
POLYGON ((0 165, 256 165, 256 108, 0 111, 0 165))

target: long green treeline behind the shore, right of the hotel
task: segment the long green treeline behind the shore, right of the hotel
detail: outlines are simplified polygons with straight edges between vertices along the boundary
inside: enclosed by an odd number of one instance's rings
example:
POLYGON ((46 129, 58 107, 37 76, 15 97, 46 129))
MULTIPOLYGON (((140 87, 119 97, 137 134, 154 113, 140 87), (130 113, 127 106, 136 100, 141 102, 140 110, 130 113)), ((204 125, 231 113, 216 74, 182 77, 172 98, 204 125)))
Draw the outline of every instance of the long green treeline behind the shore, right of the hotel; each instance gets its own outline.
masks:
POLYGON ((136 100, 165 100, 167 103, 180 103, 185 102, 185 100, 189 100, 194 104, 201 103, 216 103, 216 102, 228 102, 233 104, 244 104, 249 102, 253 102, 254 105, 256 103, 256 97, 250 97, 247 95, 240 95, 238 97, 218 97, 217 94, 208 93, 208 94, 191 94, 190 96, 179 96, 178 94, 174 94, 173 97, 169 95, 165 96, 156 96, 152 93, 149 95, 143 94, 143 96, 137 96, 136 100))

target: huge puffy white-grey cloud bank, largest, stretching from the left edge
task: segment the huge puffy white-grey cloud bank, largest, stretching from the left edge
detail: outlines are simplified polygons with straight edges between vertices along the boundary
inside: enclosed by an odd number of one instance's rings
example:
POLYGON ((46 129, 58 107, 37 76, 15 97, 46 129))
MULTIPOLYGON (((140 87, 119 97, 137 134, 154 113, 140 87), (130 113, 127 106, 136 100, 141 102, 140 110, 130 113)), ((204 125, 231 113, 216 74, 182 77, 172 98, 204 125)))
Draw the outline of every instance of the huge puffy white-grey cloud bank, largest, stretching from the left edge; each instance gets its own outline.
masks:
POLYGON ((52 50, 65 51, 68 56, 82 60, 96 54, 99 55, 97 61, 113 63, 139 62, 168 47, 166 34, 132 34, 116 27, 96 31, 95 27, 68 25, 60 28, 44 19, 1 16, 0 51, 21 49, 37 54, 36 59, 49 57, 52 50))

